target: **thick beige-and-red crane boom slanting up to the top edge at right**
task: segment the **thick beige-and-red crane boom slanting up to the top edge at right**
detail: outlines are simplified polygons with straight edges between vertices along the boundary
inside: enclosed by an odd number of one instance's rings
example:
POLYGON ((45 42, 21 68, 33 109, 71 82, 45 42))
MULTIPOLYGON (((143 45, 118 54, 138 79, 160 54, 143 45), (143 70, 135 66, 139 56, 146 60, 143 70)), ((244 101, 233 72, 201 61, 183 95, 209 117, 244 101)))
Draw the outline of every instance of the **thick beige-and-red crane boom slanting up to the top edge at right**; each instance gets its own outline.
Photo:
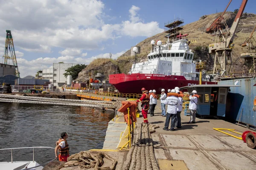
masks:
POLYGON ((240 22, 240 18, 244 12, 244 8, 246 6, 246 3, 247 3, 247 0, 243 0, 240 8, 239 8, 239 11, 237 12, 236 14, 236 18, 230 28, 230 37, 227 37, 227 42, 226 42, 226 48, 228 48, 230 46, 230 44, 233 43, 233 40, 234 40, 234 37, 235 37, 235 34, 236 34, 236 30, 237 30, 237 27, 238 27, 238 24, 240 22))

